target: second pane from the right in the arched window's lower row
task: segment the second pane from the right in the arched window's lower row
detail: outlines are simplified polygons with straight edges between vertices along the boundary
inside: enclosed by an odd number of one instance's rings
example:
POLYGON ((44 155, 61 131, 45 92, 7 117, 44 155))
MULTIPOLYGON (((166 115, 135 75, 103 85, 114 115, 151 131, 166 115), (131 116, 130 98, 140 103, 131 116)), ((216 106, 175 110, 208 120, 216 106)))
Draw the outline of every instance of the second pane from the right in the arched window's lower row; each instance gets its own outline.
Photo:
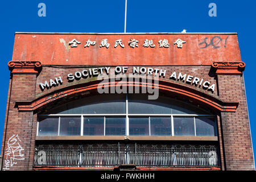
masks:
POLYGON ((174 118, 174 135, 195 136, 194 118, 174 118))

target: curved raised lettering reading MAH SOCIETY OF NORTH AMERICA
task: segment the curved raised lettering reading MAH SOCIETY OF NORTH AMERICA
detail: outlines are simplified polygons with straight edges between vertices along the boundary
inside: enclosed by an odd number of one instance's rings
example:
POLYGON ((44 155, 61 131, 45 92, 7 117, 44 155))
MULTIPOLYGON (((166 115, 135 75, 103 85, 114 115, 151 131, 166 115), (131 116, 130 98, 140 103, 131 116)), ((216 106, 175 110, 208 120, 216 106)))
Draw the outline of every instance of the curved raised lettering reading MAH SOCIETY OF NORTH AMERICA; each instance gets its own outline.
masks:
MULTIPOLYGON (((69 82, 80 80, 82 78, 88 78, 88 77, 99 77, 102 75, 111 75, 112 73, 114 75, 122 75, 122 77, 117 77, 117 81, 120 80, 120 78, 125 77, 125 73, 127 72, 128 67, 125 66, 118 66, 114 69, 110 69, 110 67, 99 67, 99 68, 86 68, 82 71, 76 71, 75 73, 68 73, 67 80, 69 82)), ((131 75, 142 75, 142 76, 154 76, 154 78, 157 77, 166 77, 166 69, 158 69, 158 68, 146 68, 146 67, 133 67, 133 73, 129 74, 129 77, 131 75)), ((202 86, 202 88, 207 89, 208 91, 214 92, 215 84, 211 84, 209 81, 204 80, 203 78, 195 77, 192 75, 188 75, 187 73, 181 73, 181 72, 172 72, 172 74, 169 76, 170 79, 175 81, 182 81, 187 84, 192 84, 194 86, 202 86)), ((121 80, 122 82, 124 80, 121 80)), ((40 89, 43 91, 44 89, 52 88, 52 86, 59 86, 63 84, 63 79, 59 76, 54 79, 50 79, 49 81, 40 82, 39 86, 40 89)))

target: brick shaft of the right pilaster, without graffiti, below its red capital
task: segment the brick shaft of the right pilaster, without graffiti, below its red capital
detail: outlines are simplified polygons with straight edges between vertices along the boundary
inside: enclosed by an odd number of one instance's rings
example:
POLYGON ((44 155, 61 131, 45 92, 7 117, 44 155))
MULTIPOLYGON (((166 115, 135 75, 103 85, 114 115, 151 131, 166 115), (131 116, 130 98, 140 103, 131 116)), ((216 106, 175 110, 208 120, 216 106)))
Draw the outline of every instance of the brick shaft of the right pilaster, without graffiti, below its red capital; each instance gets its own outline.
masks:
POLYGON ((238 101, 236 113, 221 113, 226 170, 254 170, 253 148, 243 76, 218 75, 223 101, 238 101))

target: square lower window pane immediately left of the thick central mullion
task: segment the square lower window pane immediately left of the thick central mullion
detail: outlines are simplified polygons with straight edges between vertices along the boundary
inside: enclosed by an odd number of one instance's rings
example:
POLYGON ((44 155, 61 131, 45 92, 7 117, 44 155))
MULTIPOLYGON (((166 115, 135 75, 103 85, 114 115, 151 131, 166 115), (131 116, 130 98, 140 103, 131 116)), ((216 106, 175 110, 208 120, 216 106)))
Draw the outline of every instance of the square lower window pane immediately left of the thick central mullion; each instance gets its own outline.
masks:
POLYGON ((106 118, 106 135, 125 135, 125 118, 106 118))

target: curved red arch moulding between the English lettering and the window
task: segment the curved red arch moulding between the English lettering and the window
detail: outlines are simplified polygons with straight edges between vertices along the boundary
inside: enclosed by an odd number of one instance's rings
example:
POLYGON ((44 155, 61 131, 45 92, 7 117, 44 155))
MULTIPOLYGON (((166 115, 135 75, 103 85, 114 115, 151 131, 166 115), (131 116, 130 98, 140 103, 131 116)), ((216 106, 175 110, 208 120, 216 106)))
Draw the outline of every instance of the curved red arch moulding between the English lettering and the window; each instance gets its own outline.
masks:
MULTIPOLYGON (((15 103, 19 111, 36 111, 54 101, 60 99, 75 96, 77 94, 84 94, 86 92, 97 92, 98 86, 122 86, 123 82, 120 81, 109 81, 108 83, 99 82, 99 80, 91 81, 85 84, 72 85, 59 90, 54 90, 51 93, 47 93, 44 96, 36 98, 33 101, 17 101, 15 103)), ((219 111, 231 111, 234 112, 237 109, 238 102, 223 102, 217 97, 211 96, 210 94, 201 92, 196 89, 189 88, 188 86, 175 84, 173 82, 167 82, 159 80, 159 84, 148 84, 143 82, 129 82, 125 83, 126 86, 139 86, 139 87, 150 87, 152 89, 159 89, 159 93, 165 93, 170 96, 182 97, 183 99, 190 100, 194 104, 200 104, 202 106, 208 107, 217 113, 219 111)))

